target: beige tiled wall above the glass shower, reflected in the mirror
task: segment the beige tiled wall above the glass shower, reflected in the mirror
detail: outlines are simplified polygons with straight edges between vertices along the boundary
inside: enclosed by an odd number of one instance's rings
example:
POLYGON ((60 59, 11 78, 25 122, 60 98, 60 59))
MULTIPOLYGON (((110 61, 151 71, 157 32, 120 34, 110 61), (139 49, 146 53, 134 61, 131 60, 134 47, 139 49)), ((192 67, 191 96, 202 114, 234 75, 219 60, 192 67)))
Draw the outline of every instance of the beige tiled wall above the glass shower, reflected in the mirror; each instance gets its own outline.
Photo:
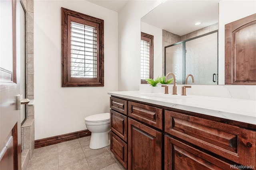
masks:
MULTIPOLYGON (((215 23, 212 25, 209 25, 208 27, 204 27, 202 29, 198 29, 196 31, 193 31, 191 33, 188 33, 186 35, 176 35, 174 33, 170 33, 166 30, 162 30, 162 65, 164 66, 164 47, 168 45, 172 45, 174 43, 178 43, 180 41, 184 41, 186 39, 194 38, 215 30, 218 30, 219 24, 215 23)), ((162 67, 162 74, 164 75, 164 67, 162 67)))

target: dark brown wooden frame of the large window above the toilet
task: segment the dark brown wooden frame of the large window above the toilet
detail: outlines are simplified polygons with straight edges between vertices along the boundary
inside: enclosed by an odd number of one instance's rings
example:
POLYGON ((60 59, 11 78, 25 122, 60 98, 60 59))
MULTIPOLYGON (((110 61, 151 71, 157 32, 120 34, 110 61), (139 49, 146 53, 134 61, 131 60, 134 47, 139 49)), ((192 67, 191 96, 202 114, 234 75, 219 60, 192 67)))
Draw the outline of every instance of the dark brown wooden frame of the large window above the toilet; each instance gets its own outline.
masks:
MULTIPOLYGON (((86 24, 84 24, 86 25, 86 24)), ((104 20, 61 8, 62 87, 104 86, 104 20), (92 23, 97 28, 97 77, 71 77, 70 23, 92 23)))

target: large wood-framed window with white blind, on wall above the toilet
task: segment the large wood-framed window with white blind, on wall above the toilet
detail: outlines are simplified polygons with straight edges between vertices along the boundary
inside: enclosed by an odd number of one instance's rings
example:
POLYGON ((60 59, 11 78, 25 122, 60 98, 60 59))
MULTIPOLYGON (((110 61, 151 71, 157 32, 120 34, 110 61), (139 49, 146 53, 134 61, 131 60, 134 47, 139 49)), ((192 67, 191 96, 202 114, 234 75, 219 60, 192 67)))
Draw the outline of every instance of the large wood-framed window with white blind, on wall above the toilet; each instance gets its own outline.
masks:
POLYGON ((62 87, 104 86, 104 21, 62 8, 62 87))

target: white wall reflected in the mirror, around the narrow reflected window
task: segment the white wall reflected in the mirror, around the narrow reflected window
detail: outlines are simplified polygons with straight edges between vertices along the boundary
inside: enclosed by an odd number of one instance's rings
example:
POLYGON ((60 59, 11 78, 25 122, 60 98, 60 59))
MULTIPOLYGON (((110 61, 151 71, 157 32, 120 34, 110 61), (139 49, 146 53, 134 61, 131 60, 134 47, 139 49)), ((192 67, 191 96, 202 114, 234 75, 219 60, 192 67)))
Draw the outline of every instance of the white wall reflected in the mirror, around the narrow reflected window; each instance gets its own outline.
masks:
POLYGON ((154 36, 154 78, 162 76, 162 29, 141 22, 141 31, 154 36))

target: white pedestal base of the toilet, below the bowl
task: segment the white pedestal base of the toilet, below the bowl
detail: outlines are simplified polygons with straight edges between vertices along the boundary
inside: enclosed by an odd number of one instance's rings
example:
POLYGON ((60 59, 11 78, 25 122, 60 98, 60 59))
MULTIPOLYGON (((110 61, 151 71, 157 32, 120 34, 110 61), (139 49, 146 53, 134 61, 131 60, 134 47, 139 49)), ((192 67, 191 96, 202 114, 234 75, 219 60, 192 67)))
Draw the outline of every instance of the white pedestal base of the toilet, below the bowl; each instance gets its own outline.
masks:
POLYGON ((103 133, 92 133, 89 145, 90 149, 100 149, 110 145, 108 141, 108 133, 109 131, 103 133))

